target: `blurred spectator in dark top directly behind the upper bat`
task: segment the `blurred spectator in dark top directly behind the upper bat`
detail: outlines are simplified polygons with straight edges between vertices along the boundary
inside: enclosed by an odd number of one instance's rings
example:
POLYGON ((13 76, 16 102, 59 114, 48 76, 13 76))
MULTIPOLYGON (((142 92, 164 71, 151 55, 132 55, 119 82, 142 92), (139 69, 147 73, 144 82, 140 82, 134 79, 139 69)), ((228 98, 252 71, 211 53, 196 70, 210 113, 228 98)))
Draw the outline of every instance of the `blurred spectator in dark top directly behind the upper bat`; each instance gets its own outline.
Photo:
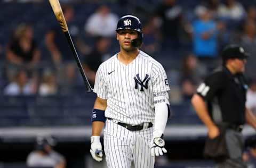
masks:
MULTIPOLYGON (((72 24, 74 18, 73 7, 69 5, 63 6, 63 14, 68 24, 70 34, 75 42, 78 28, 75 26, 75 24, 72 24)), ((55 27, 51 28, 46 33, 45 45, 46 48, 50 51, 52 61, 55 65, 74 61, 73 53, 69 47, 66 37, 63 35, 63 32, 60 29, 59 24, 56 23, 55 27)))

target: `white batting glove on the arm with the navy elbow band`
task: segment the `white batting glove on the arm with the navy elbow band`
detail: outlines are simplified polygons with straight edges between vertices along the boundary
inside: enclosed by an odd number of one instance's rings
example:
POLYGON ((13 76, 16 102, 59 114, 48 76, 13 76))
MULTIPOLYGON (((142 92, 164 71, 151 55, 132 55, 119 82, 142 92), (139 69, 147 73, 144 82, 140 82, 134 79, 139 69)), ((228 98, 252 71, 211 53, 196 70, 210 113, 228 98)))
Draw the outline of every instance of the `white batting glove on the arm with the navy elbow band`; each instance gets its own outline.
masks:
POLYGON ((100 143, 100 136, 91 136, 91 149, 90 153, 95 161, 102 161, 103 150, 100 143))

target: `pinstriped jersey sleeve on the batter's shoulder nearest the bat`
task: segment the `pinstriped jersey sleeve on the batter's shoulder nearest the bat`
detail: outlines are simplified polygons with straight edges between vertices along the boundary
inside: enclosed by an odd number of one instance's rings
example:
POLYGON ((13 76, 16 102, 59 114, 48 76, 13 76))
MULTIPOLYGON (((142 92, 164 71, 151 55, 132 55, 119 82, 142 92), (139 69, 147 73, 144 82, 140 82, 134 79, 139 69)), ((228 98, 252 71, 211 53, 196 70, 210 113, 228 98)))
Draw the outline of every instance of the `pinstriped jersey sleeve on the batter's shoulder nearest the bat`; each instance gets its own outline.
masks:
POLYGON ((108 98, 108 87, 102 71, 102 64, 96 73, 93 92, 96 93, 99 98, 108 98))

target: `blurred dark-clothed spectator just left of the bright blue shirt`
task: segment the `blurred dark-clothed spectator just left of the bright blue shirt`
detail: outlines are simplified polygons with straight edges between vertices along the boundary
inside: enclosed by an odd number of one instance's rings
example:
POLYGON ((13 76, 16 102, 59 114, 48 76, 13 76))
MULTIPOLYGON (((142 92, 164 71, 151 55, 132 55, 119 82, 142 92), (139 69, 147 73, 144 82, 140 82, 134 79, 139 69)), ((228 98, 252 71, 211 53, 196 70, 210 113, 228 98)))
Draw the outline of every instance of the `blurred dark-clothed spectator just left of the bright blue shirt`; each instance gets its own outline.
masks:
POLYGON ((175 0, 164 0, 155 12, 162 22, 163 47, 180 46, 180 32, 183 30, 182 8, 175 0))

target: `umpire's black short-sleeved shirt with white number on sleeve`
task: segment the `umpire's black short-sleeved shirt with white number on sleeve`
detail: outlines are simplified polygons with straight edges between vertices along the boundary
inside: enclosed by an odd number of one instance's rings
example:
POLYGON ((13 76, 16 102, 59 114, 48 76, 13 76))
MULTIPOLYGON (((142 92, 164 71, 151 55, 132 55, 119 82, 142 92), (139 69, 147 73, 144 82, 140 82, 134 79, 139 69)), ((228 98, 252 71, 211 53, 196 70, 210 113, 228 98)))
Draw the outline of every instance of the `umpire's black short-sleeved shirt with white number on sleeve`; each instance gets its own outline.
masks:
POLYGON ((226 67, 213 72, 198 87, 197 94, 207 102, 210 116, 213 103, 218 103, 222 122, 245 123, 245 101, 247 85, 243 74, 233 75, 226 67))

